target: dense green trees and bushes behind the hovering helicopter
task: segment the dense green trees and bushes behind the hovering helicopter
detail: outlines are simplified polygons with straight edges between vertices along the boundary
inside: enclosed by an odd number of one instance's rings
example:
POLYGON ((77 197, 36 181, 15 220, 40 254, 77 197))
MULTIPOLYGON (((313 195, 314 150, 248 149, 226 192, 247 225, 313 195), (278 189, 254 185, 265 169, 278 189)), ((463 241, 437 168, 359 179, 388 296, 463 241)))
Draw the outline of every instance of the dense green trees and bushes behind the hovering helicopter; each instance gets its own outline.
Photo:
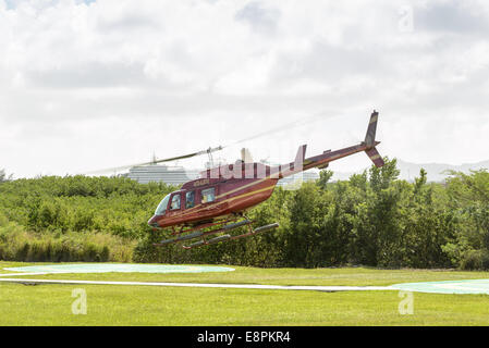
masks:
MULTIPOLYGON (((47 176, 0 184, 0 259, 225 263, 255 266, 489 269, 489 173, 452 172, 444 183, 399 179, 386 160, 347 181, 277 187, 249 212, 250 238, 184 250, 146 225, 178 189, 123 177, 47 176)), ((168 233, 167 233, 168 234, 168 233)))

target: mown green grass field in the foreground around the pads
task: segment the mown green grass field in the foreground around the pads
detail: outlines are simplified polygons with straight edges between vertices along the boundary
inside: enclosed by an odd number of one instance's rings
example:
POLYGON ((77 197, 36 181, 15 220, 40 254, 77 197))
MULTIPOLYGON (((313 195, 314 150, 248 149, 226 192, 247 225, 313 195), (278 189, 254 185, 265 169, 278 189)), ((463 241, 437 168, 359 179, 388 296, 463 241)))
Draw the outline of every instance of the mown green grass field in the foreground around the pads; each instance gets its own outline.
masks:
MULTIPOLYGON (((0 262, 3 268, 28 263, 0 262)), ((489 272, 254 269, 201 274, 51 274, 33 278, 276 285, 392 285, 489 278, 489 272)), ((27 276, 22 276, 23 278, 27 276)), ((0 283, 0 325, 488 325, 489 296, 414 294, 400 314, 398 291, 293 291, 113 285, 0 283), (72 313, 72 290, 87 294, 87 314, 72 313)))

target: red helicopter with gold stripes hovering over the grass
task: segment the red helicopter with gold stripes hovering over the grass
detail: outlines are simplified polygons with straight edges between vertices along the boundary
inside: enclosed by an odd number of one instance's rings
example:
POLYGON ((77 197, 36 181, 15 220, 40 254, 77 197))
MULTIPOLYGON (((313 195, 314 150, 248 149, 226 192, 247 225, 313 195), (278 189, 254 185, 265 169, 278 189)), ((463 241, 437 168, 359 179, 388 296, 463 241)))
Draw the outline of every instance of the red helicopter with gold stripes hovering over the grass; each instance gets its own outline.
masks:
MULTIPOLYGON (((167 195, 149 219, 149 226, 155 229, 171 229, 173 236, 155 245, 167 246, 198 238, 197 241, 183 245, 183 248, 192 249, 249 237, 278 227, 279 224, 273 223, 253 228, 253 221, 246 216, 246 211, 270 198, 279 179, 313 167, 325 169, 329 162, 362 151, 367 153, 376 166, 384 164, 376 149, 380 144, 375 139, 378 115, 377 111, 371 113, 365 140, 358 145, 335 151, 327 150, 307 159, 306 145, 303 145, 298 148, 294 162, 284 165, 269 166, 239 161, 201 172, 198 179, 187 182, 180 190, 167 195), (248 232, 234 236, 229 234, 242 226, 247 226, 248 232), (209 236, 218 233, 228 234, 209 239, 209 236)), ((190 158, 220 149, 222 147, 151 163, 190 158)))

